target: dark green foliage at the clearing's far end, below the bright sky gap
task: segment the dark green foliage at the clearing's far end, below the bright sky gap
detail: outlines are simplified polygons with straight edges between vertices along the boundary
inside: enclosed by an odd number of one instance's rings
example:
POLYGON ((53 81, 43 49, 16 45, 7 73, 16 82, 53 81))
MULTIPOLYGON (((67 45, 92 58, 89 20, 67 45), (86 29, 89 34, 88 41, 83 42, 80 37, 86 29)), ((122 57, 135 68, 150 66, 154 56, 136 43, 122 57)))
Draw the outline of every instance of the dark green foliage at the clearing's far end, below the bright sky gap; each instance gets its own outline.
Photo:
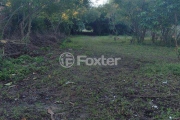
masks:
POLYGON ((91 8, 86 12, 85 25, 93 29, 95 35, 129 33, 126 24, 122 23, 122 15, 117 4, 106 4, 91 8))

